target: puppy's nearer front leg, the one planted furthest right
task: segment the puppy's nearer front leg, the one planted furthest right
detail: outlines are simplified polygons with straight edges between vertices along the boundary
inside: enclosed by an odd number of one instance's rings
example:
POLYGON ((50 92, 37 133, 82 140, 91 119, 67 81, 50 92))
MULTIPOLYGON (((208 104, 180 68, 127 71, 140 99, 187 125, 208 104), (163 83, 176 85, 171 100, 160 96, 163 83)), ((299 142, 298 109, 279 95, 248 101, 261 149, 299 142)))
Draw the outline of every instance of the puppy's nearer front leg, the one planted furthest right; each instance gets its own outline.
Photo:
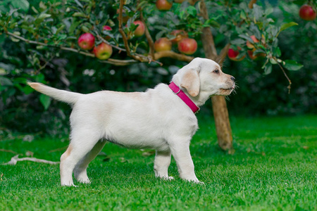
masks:
POLYGON ((194 163, 192 162, 192 156, 189 152, 189 142, 178 142, 170 146, 173 158, 178 165, 178 172, 180 172, 180 178, 187 181, 194 181, 199 183, 196 174, 194 172, 194 163))

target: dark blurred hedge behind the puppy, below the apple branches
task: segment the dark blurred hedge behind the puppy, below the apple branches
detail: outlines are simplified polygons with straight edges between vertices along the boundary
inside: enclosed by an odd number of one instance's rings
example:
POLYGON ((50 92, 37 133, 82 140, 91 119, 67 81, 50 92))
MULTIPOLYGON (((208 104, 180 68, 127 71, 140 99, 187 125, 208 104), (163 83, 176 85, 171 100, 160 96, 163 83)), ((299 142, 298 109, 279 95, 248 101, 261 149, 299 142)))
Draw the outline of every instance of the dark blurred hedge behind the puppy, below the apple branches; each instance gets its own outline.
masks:
MULTIPOLYGON (((30 1, 30 4, 36 7, 39 1, 30 1)), ((276 23, 292 20, 299 24, 280 34, 282 59, 297 60, 304 68, 287 71, 292 80, 292 89, 288 94, 287 79, 277 65, 273 66, 270 75, 263 75, 263 60, 225 60, 223 71, 235 76, 239 86, 237 94, 229 97, 230 115, 251 117, 317 113, 316 20, 301 20, 298 15, 299 6, 293 4, 293 1, 280 1, 279 4, 273 5, 274 12, 270 18, 276 23)), ((221 40, 223 35, 215 34, 215 39, 221 40)), ((223 46, 217 47, 220 51, 223 46)), ((31 50, 34 48, 30 48, 29 44, 22 41, 13 42, 5 34, 1 34, 0 49, 2 133, 6 133, 4 128, 12 132, 48 132, 58 136, 68 132, 68 115, 71 110, 69 106, 51 101, 51 106, 45 110, 39 102, 38 93, 32 92, 26 86, 16 85, 25 79, 44 81, 52 87, 80 93, 99 90, 145 91, 160 82, 168 83, 175 71, 186 64, 165 58, 160 60, 164 64, 162 67, 153 63, 118 67, 99 63, 77 53, 60 51, 59 58, 49 60, 42 70, 35 70, 31 61, 32 55, 37 51, 31 50), (30 77, 32 71, 37 72, 37 75, 30 77), (7 81, 1 75, 11 79, 14 86, 6 86, 7 81)), ((206 102, 201 113, 212 115, 211 101, 206 102)))

